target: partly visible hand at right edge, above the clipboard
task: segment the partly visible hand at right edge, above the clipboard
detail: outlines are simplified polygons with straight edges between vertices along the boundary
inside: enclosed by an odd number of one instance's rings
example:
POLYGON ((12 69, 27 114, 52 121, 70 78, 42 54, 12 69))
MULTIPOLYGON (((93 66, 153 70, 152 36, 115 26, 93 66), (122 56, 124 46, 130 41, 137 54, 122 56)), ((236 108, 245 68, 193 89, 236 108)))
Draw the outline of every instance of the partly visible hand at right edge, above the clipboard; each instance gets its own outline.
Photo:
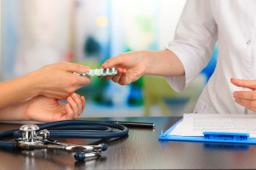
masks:
POLYGON ((250 91, 235 91, 235 102, 246 107, 250 111, 256 111, 256 80, 239 80, 231 78, 231 82, 237 87, 249 88, 250 91))

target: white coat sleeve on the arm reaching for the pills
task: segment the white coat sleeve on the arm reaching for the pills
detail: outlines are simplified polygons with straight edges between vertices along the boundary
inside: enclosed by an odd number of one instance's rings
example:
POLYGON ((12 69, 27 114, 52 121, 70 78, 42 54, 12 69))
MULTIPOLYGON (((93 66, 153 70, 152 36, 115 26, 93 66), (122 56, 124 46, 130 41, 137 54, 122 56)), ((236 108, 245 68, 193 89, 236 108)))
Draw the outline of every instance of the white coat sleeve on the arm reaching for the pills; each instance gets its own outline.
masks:
POLYGON ((207 66, 217 37, 210 1, 188 0, 177 24, 174 41, 166 47, 182 61, 185 70, 185 76, 166 77, 174 90, 182 92, 207 66))

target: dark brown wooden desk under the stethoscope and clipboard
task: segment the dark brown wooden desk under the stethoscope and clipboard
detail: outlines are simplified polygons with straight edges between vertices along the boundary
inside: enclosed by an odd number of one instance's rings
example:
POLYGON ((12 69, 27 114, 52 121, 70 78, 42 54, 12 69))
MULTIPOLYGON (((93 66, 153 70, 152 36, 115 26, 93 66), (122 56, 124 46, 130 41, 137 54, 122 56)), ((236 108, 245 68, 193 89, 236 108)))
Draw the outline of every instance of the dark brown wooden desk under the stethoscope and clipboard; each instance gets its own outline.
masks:
MULTIPOLYGON (((108 144, 102 157, 75 161, 65 150, 0 150, 0 169, 256 169, 256 146, 159 141, 180 117, 96 118, 154 122, 156 127, 131 127, 129 136, 112 141, 96 139, 60 139, 72 144, 108 144)), ((0 131, 19 128, 18 124, 0 123, 0 131)))

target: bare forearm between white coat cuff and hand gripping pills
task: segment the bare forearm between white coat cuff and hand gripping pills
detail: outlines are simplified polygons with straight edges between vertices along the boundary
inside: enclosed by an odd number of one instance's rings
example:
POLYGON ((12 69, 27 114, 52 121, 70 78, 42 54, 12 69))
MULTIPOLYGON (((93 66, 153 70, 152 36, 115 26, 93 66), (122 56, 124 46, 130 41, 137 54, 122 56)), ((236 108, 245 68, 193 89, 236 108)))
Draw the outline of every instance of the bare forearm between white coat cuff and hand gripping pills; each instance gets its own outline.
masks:
POLYGON ((184 76, 185 71, 183 63, 178 59, 177 55, 170 50, 142 51, 143 58, 146 59, 147 75, 156 75, 164 77, 184 76))

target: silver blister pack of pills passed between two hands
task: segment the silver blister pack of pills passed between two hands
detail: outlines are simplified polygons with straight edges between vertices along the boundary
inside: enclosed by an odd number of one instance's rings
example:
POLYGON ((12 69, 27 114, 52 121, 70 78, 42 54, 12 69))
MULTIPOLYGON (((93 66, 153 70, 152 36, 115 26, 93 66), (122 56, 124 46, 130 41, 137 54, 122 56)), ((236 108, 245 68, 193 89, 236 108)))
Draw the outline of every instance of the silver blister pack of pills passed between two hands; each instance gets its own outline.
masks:
POLYGON ((105 77, 105 76, 116 75, 118 73, 118 69, 117 68, 90 69, 90 71, 86 73, 77 73, 77 72, 73 72, 73 73, 81 77, 105 77))

